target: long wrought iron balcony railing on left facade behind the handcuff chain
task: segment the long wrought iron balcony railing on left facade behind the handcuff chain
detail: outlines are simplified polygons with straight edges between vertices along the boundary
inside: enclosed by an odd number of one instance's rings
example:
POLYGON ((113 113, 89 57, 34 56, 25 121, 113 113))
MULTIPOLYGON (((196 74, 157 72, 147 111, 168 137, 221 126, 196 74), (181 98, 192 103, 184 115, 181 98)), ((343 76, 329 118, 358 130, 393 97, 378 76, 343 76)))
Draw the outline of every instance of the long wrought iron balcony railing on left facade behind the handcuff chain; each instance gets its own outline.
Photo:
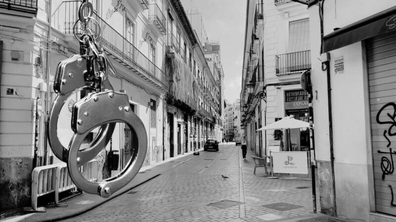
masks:
MULTIPOLYGON (((81 1, 64 1, 65 6, 65 21, 64 33, 73 34, 73 25, 78 20, 78 8, 81 1)), ((100 16, 94 13, 94 19, 98 22, 89 23, 88 28, 100 35, 97 41, 107 52, 113 56, 114 59, 124 63, 130 70, 142 76, 144 79, 153 83, 154 85, 167 92, 169 90, 169 76, 167 76, 161 69, 152 63, 142 52, 140 52, 130 41, 114 30, 107 24, 100 16)), ((59 21, 58 21, 59 22, 59 21)), ((58 24, 61 24, 60 22, 58 24)), ((82 33, 83 25, 78 23, 75 26, 75 33, 77 35, 82 33)))

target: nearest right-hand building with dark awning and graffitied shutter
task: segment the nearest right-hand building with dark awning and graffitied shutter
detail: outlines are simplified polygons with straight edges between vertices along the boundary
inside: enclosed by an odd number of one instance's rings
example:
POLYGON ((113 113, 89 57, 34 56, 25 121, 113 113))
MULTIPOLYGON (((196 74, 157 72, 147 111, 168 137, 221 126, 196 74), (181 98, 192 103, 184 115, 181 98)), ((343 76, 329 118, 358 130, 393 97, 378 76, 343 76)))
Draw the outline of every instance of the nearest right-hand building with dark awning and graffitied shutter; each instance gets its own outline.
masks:
POLYGON ((308 4, 320 205, 342 218, 390 222, 396 220, 396 4, 362 3, 308 4))

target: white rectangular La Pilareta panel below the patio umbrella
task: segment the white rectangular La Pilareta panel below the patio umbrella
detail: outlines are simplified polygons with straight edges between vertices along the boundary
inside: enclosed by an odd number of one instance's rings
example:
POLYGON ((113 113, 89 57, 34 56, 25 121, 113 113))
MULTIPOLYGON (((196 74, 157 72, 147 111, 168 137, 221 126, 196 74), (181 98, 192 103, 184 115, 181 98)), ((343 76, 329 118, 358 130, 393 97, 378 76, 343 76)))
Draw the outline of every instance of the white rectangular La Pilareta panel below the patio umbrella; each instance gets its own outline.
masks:
POLYGON ((307 152, 272 152, 274 173, 308 174, 307 152))

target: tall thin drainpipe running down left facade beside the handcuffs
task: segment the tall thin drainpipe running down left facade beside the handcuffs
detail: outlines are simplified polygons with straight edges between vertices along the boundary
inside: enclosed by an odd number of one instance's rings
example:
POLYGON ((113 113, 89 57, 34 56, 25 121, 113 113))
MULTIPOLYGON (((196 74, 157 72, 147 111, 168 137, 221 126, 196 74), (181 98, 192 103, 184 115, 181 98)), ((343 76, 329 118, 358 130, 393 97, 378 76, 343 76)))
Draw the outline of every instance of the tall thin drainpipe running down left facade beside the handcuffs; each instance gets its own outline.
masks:
MULTIPOLYGON (((52 9, 52 1, 48 2, 48 39, 51 39, 52 35, 52 28, 51 28, 51 9, 52 9)), ((47 43, 48 47, 51 47, 51 43, 47 43)), ((48 162, 48 142, 46 139, 47 135, 47 122, 48 122, 48 114, 49 114, 49 105, 50 105, 50 97, 49 97, 49 74, 50 74, 50 58, 51 54, 49 51, 47 51, 47 77, 46 77, 46 84, 47 84, 47 93, 46 93, 46 118, 45 119, 45 124, 44 124, 44 129, 45 129, 45 136, 44 136, 44 165, 47 165, 48 162)))

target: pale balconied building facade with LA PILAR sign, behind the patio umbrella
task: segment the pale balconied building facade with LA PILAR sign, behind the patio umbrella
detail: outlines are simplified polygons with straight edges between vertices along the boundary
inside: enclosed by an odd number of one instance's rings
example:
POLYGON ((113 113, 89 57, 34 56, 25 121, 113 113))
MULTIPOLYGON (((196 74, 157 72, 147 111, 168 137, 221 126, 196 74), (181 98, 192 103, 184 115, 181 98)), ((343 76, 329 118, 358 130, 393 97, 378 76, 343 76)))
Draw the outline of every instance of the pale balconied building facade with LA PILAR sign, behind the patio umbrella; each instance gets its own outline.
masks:
MULTIPOLYGON (((247 1, 241 124, 248 148, 259 156, 275 131, 257 129, 285 116, 308 122, 308 97, 300 85, 301 73, 311 67, 308 18, 297 2, 247 1)), ((281 151, 309 146, 308 129, 281 135, 281 151)))

